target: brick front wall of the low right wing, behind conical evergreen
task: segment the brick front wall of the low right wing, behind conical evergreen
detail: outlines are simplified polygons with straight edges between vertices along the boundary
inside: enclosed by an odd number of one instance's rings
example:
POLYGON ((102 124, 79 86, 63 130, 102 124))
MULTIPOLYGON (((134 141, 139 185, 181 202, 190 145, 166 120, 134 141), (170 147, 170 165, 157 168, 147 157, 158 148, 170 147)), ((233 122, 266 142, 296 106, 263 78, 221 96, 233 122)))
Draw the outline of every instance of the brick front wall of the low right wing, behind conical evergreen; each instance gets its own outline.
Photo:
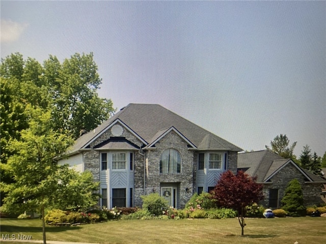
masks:
POLYGON ((305 176, 298 171, 294 165, 288 164, 271 178, 270 183, 264 184, 263 192, 265 198, 261 201, 261 204, 265 207, 269 207, 269 189, 279 189, 279 208, 281 208, 281 200, 284 196, 284 191, 293 178, 298 179, 303 188, 304 204, 306 206, 318 205, 321 203, 320 193, 322 184, 306 182, 305 176))

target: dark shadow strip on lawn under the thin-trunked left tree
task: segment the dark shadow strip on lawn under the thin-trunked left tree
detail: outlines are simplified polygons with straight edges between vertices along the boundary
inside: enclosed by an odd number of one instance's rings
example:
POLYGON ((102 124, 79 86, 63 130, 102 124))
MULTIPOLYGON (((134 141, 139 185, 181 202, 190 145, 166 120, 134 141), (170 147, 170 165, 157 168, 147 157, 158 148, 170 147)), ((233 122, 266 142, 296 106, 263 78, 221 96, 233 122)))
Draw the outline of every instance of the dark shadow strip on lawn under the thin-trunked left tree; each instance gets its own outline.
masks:
MULTIPOLYGON (((60 227, 50 227, 46 226, 45 231, 49 232, 63 232, 67 230, 77 230, 80 226, 60 226, 60 227)), ((42 232, 42 227, 36 226, 12 226, 12 225, 1 225, 1 232, 42 232)))

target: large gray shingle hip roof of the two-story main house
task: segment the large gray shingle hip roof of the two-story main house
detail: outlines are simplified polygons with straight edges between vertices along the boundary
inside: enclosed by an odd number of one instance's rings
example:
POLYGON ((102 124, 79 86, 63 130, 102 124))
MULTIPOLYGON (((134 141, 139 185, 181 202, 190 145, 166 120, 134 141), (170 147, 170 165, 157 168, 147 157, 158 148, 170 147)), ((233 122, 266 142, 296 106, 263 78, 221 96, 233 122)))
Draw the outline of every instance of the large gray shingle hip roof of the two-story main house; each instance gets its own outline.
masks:
POLYGON ((153 141, 155 139, 154 136, 162 133, 162 130, 173 126, 189 141, 195 144, 198 149, 242 150, 240 147, 214 135, 158 104, 131 103, 107 119, 93 131, 79 137, 70 151, 73 152, 83 148, 116 119, 120 119, 147 143, 153 141))

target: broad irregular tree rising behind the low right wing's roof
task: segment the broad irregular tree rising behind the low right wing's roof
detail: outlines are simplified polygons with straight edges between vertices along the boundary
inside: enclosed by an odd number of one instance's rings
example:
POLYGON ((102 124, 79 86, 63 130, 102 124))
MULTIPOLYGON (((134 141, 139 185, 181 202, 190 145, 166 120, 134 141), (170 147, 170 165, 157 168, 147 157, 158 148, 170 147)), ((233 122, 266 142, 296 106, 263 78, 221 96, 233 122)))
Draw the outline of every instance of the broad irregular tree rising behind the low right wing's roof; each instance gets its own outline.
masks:
POLYGON ((285 159, 295 160, 295 155, 293 155, 294 147, 296 146, 296 141, 289 146, 290 140, 286 135, 280 134, 276 136, 273 141, 270 141, 270 147, 265 145, 266 149, 273 151, 277 155, 285 159))

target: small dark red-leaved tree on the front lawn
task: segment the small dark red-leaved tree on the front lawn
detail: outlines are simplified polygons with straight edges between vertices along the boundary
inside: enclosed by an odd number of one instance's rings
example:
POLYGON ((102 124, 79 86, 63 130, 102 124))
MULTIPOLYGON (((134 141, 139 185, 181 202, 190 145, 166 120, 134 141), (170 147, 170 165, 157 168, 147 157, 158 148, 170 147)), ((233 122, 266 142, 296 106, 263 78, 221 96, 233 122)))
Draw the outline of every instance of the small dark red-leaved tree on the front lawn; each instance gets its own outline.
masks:
POLYGON ((262 189, 263 186, 256 182, 256 177, 250 177, 243 171, 238 171, 235 175, 229 170, 221 175, 211 193, 219 207, 238 211, 238 221, 243 235, 246 206, 263 199, 262 189))

